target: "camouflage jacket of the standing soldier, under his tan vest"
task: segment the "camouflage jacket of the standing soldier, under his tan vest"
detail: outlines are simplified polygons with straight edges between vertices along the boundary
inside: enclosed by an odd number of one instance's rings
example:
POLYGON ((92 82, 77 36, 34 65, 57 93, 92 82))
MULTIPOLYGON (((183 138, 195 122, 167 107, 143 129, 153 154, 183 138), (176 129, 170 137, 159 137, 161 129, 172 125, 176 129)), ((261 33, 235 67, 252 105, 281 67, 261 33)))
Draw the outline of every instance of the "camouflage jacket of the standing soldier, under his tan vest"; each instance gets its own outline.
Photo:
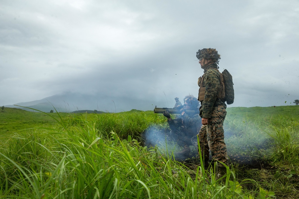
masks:
POLYGON ((199 115, 202 118, 211 118, 216 106, 223 106, 226 109, 226 104, 217 95, 220 91, 220 74, 217 70, 217 64, 211 64, 204 70, 203 85, 205 87, 205 99, 201 101, 199 115))

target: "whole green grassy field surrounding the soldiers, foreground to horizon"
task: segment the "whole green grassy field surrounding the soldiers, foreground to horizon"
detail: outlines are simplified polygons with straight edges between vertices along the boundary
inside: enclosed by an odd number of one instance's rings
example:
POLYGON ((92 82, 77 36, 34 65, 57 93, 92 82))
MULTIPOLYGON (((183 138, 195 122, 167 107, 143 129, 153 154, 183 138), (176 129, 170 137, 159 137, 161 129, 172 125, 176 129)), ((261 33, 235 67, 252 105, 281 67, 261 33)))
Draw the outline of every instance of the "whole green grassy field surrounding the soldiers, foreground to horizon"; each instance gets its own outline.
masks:
POLYGON ((147 129, 168 128, 162 114, 4 108, 0 198, 299 198, 299 106, 227 112, 232 166, 219 176, 144 146, 147 129))

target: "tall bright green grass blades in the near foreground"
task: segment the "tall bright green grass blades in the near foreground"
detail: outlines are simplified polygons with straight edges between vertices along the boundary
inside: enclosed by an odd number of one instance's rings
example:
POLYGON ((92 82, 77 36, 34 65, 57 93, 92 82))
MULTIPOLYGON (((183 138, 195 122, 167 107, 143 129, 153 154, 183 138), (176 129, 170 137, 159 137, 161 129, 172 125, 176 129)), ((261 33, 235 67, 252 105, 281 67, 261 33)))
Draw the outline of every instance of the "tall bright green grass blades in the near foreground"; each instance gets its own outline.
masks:
MULTIPOLYGON (((132 116, 129 116, 132 117, 132 116)), ((1 149, 1 198, 254 198, 226 167, 196 171, 97 129, 98 118, 15 133, 1 149)), ((117 118, 115 118, 117 120, 117 118)), ((66 121, 70 121, 69 118, 66 121)), ((110 123, 111 124, 111 123, 110 123)), ((246 180, 245 180, 246 181, 246 180)), ((271 192, 268 193, 271 195, 271 192)))

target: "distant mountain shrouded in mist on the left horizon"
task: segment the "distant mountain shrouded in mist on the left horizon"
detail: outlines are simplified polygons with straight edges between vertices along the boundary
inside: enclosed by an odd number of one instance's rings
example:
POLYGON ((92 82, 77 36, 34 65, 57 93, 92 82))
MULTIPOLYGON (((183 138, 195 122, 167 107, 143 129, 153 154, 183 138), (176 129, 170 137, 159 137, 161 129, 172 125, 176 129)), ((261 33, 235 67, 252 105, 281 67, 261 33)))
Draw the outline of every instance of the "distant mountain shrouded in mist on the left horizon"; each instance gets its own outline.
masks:
POLYGON ((98 112, 123 112, 132 109, 153 110, 155 105, 159 106, 159 104, 162 103, 153 103, 150 100, 125 98, 121 96, 103 96, 100 93, 88 95, 64 92, 62 94, 52 95, 41 100, 15 104, 22 107, 17 107, 14 105, 6 105, 4 107, 20 108, 27 111, 40 110, 42 112, 50 112, 51 110, 56 112, 55 109, 57 112, 74 112, 80 110, 91 110, 93 112, 94 110, 97 110, 98 112))

